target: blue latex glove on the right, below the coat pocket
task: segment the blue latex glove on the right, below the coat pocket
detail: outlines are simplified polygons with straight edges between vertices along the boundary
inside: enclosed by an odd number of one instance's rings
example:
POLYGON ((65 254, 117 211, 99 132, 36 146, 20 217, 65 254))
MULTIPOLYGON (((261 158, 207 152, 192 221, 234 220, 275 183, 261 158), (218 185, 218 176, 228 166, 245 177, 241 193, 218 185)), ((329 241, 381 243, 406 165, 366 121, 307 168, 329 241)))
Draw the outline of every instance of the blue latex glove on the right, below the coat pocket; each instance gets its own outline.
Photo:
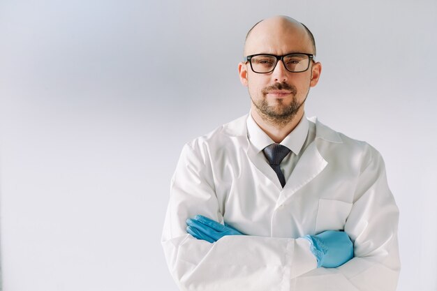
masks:
POLYGON ((353 258, 353 243, 342 231, 327 230, 316 235, 306 235, 311 252, 317 258, 317 267, 336 268, 353 258))

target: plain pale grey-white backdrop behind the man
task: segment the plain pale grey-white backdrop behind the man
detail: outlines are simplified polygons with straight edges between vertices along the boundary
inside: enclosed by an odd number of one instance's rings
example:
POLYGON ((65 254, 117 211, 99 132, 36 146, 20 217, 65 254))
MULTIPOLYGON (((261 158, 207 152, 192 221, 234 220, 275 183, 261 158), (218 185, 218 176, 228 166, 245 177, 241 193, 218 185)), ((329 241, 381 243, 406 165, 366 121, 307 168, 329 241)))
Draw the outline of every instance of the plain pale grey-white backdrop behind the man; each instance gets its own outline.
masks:
POLYGON ((160 244, 185 142, 249 110, 246 31, 313 31, 308 116, 385 158, 401 291, 437 290, 437 2, 0 2, 5 291, 177 290, 160 244))

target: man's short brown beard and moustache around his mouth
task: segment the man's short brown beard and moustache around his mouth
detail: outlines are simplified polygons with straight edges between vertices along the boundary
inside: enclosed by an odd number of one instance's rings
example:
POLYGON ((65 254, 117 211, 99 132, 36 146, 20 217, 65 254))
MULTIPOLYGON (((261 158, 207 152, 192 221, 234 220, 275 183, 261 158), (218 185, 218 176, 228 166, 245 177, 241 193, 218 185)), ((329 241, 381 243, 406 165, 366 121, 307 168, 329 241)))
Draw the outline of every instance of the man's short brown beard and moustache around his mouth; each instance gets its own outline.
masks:
POLYGON ((275 83, 272 86, 266 87, 262 89, 263 98, 255 101, 251 96, 251 100, 253 105, 257 108, 258 112, 262 119, 267 121, 269 124, 274 124, 276 126, 285 126, 292 119, 295 118, 297 112, 299 112, 300 107, 304 105, 306 97, 308 96, 308 92, 306 93, 305 99, 302 103, 299 103, 296 98, 297 89, 294 85, 283 83, 275 83), (284 103, 285 100, 278 99, 275 101, 275 104, 271 105, 267 102, 267 93, 272 90, 288 90, 292 94, 292 100, 288 105, 284 103))

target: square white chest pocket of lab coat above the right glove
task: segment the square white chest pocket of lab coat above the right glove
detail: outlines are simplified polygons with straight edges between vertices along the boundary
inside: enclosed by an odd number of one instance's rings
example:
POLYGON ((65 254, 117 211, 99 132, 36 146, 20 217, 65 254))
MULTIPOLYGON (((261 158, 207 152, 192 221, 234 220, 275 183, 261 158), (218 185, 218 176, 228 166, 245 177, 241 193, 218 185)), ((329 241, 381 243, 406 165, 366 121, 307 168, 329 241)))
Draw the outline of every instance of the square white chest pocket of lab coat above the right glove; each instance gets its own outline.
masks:
POLYGON ((325 230, 343 230, 352 203, 340 200, 320 199, 316 217, 316 234, 325 230))

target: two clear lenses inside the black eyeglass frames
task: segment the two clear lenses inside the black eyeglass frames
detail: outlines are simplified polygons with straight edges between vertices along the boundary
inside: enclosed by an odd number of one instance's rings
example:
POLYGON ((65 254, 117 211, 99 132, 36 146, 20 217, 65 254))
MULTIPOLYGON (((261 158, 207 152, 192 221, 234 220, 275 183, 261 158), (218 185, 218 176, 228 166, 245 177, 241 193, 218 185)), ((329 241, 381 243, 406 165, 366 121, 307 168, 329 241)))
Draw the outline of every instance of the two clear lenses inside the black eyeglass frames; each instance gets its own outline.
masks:
MULTIPOLYGON (((256 73, 269 73, 276 66, 276 57, 269 55, 253 56, 252 69, 256 73)), ((309 57, 306 54, 288 54, 283 57, 283 64, 290 72, 303 72, 309 68, 309 57)))

